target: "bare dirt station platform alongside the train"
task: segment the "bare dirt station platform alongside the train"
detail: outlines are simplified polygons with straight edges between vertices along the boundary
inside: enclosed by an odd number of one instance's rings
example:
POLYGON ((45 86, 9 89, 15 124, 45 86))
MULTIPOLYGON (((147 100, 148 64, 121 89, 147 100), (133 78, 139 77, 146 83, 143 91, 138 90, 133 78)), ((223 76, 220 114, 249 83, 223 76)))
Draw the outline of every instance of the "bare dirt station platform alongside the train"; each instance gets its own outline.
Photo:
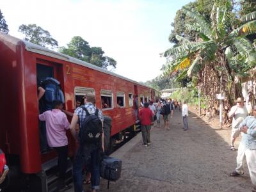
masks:
MULTIPOLYGON (((170 131, 152 127, 149 147, 141 134, 111 156, 122 159, 122 177, 100 180, 100 191, 252 191, 248 169, 243 177, 230 177, 236 168, 237 151, 229 147, 230 127, 220 129, 218 116, 208 123, 189 107, 188 131, 179 111, 170 119, 170 131)), ((236 141, 235 147, 239 145, 236 141)), ((84 187, 90 191, 90 186, 84 187)), ((73 190, 70 190, 73 191, 73 190)))

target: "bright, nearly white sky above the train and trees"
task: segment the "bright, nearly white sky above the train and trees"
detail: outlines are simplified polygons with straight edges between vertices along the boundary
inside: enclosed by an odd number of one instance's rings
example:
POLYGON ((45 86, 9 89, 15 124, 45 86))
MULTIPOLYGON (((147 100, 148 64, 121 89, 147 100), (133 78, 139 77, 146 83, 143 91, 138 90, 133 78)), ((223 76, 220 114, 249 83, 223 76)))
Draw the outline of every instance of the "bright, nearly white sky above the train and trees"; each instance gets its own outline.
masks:
POLYGON ((22 38, 21 24, 36 24, 51 33, 59 46, 81 36, 116 60, 113 72, 135 81, 161 74, 172 47, 168 36, 177 10, 191 0, 8 0, 0 9, 9 35, 22 38))

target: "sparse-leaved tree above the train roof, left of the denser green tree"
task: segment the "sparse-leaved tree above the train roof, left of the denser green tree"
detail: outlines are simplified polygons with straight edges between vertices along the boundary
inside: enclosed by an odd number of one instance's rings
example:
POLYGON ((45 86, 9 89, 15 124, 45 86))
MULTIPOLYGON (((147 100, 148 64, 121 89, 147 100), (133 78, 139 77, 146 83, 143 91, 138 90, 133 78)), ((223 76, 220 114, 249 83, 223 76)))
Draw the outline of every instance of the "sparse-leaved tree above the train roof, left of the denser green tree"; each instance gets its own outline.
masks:
POLYGON ((52 38, 49 31, 36 26, 36 24, 22 24, 19 26, 19 32, 25 35, 24 40, 40 45, 42 47, 47 47, 49 45, 52 48, 58 47, 58 42, 52 38))

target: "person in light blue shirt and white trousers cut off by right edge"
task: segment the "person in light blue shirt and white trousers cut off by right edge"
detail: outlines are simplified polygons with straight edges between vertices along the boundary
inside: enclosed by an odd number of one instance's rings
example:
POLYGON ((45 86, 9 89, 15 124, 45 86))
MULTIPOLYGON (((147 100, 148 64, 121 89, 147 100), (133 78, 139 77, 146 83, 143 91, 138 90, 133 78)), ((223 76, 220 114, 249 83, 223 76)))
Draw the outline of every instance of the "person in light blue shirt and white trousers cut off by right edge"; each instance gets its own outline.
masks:
POLYGON ((230 176, 239 176, 244 173, 244 164, 247 161, 250 178, 256 192, 256 105, 252 108, 253 116, 247 116, 239 125, 238 129, 243 132, 237 151, 237 168, 230 176), (241 161, 239 154, 244 154, 241 161), (246 159, 246 160, 245 160, 246 159))

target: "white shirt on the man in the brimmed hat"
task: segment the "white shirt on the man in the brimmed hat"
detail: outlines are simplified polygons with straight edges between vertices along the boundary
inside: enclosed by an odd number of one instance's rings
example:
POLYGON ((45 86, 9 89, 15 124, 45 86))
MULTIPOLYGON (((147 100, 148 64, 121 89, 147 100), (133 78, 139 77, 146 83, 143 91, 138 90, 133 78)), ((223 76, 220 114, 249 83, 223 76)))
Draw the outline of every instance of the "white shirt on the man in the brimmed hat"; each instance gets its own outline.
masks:
POLYGON ((238 108, 237 106, 233 106, 230 109, 230 112, 228 115, 232 115, 235 112, 235 115, 233 116, 232 120, 232 128, 237 128, 238 125, 243 122, 244 118, 248 115, 246 107, 243 106, 243 108, 238 108), (237 109, 236 109, 237 108, 237 109))

